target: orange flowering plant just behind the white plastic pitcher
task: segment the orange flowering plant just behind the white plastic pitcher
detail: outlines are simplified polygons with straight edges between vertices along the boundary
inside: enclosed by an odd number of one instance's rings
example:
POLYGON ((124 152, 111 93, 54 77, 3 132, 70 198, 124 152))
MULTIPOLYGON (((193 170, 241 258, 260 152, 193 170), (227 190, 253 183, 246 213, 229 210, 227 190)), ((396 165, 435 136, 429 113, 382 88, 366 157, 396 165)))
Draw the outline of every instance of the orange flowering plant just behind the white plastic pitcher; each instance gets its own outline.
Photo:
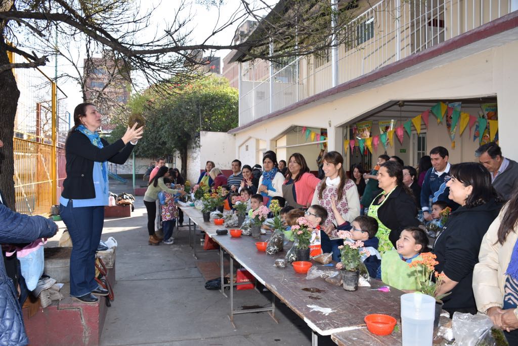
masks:
POLYGON ((442 303, 441 299, 451 294, 451 292, 437 296, 437 288, 444 279, 444 274, 435 270, 435 266, 439 264, 436 260, 437 256, 431 252, 425 252, 421 254, 421 258, 421 260, 415 260, 408 264, 417 273, 418 283, 421 287, 420 292, 434 297, 435 300, 442 303), (433 281, 434 277, 435 282, 433 281))

